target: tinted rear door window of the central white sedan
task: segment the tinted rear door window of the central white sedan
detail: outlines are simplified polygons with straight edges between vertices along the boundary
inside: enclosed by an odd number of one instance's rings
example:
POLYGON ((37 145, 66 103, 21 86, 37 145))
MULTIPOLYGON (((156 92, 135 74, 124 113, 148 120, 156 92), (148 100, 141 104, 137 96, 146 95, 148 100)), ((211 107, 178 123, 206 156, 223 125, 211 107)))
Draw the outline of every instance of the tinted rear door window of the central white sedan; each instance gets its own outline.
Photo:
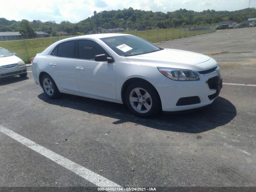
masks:
POLYGON ((73 58, 74 42, 75 41, 68 41, 59 44, 54 48, 51 55, 58 57, 73 58))

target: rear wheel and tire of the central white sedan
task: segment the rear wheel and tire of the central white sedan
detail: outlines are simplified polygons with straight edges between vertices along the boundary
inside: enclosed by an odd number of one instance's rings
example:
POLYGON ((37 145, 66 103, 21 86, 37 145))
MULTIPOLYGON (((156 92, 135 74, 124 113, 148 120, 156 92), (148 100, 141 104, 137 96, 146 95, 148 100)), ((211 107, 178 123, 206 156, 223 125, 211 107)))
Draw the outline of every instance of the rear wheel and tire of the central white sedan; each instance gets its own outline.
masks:
POLYGON ((50 75, 44 74, 41 79, 41 86, 44 90, 44 93, 52 99, 59 98, 60 92, 58 87, 56 86, 54 80, 51 78, 50 75))

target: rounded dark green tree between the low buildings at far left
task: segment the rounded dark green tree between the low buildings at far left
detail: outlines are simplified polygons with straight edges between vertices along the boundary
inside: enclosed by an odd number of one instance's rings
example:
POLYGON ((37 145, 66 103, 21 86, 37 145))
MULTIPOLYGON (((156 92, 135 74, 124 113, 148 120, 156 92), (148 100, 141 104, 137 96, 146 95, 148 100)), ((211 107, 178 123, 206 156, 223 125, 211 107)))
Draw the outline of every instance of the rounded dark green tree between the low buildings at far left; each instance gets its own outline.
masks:
POLYGON ((18 30, 23 38, 35 38, 36 37, 36 29, 33 25, 26 19, 21 20, 18 30))

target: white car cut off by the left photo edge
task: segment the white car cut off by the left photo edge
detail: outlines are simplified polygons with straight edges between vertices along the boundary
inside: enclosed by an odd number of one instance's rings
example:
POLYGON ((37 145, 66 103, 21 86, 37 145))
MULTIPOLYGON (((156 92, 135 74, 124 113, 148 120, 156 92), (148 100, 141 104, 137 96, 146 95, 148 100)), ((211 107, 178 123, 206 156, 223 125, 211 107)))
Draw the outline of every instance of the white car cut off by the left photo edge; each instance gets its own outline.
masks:
POLYGON ((19 75, 27 76, 27 66, 22 59, 0 47, 0 78, 19 75))

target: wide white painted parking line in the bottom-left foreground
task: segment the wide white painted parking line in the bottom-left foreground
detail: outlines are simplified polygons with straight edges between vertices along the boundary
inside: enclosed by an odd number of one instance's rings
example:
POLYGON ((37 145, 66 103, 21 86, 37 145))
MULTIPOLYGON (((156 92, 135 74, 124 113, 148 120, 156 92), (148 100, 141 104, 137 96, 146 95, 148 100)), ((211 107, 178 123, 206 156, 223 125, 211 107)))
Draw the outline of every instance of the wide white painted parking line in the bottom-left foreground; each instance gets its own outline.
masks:
POLYGON ((83 166, 64 158, 53 151, 40 146, 39 144, 13 132, 12 130, 5 128, 0 125, 0 132, 8 135, 9 137, 13 138, 14 140, 20 142, 21 144, 27 146, 28 148, 38 152, 39 154, 49 158, 50 160, 56 162, 57 164, 63 166, 64 168, 74 172, 75 174, 81 176, 82 178, 88 180, 89 182, 95 184, 99 187, 122 187, 99 174, 92 172, 91 170, 84 168, 83 166))

